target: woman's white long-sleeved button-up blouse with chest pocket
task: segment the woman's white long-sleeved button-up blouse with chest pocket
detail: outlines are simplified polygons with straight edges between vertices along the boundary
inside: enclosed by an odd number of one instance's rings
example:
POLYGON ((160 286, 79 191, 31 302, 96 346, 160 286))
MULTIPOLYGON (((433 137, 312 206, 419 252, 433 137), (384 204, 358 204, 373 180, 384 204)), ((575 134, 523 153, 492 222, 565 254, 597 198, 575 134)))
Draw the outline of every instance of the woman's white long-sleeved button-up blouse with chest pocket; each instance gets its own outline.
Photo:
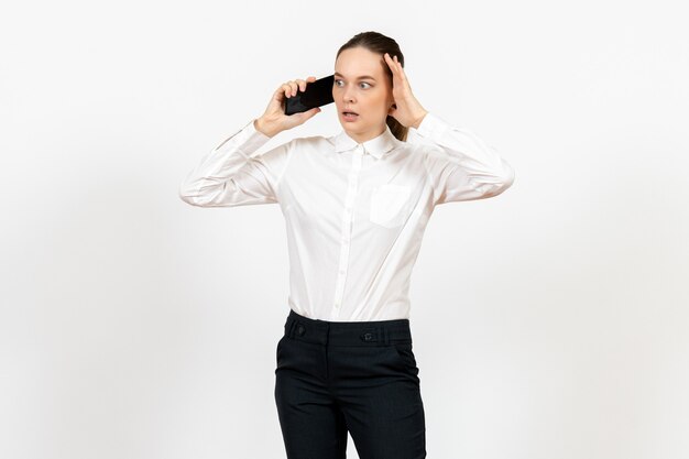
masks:
POLYGON ((409 318, 411 274, 434 207, 496 196, 514 182, 493 147, 430 112, 407 142, 390 128, 361 144, 341 130, 263 154, 271 138, 253 121, 201 159, 179 197, 200 207, 280 204, 287 304, 314 319, 409 318))

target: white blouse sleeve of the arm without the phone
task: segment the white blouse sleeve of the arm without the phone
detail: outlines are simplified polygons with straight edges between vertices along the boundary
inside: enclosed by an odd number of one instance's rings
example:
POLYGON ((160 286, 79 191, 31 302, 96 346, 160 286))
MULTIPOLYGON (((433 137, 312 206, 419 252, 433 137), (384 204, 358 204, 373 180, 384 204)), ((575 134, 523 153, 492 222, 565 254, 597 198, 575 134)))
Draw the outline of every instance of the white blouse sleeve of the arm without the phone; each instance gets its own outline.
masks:
POLYGON ((436 205, 497 196, 514 183, 514 168, 473 132, 427 112, 416 133, 436 205))

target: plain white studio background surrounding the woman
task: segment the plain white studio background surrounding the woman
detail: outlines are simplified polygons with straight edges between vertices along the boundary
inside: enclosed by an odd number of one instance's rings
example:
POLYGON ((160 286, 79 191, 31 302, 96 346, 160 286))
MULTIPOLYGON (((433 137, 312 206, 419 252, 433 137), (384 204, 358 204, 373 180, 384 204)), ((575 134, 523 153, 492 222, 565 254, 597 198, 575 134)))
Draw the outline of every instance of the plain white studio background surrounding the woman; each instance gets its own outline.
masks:
MULTIPOLYGON (((3 8, 0 457, 285 457, 282 214, 195 208, 178 184, 374 30, 425 108, 516 171, 426 231, 411 321, 428 457, 687 458, 680 3, 3 8)), ((264 149, 340 128, 328 106, 264 149)))

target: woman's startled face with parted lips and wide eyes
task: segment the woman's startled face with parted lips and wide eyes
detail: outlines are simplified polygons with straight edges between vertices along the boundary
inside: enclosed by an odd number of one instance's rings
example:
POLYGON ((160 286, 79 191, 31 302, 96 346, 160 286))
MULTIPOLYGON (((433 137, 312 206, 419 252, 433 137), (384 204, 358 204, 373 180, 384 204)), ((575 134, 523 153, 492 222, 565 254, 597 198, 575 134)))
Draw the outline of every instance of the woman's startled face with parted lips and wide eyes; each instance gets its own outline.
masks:
POLYGON ((358 143, 385 131, 385 119, 394 103, 386 66, 382 55, 360 46, 342 51, 335 62, 332 98, 338 119, 358 143), (347 111, 357 114, 346 116, 347 111))

